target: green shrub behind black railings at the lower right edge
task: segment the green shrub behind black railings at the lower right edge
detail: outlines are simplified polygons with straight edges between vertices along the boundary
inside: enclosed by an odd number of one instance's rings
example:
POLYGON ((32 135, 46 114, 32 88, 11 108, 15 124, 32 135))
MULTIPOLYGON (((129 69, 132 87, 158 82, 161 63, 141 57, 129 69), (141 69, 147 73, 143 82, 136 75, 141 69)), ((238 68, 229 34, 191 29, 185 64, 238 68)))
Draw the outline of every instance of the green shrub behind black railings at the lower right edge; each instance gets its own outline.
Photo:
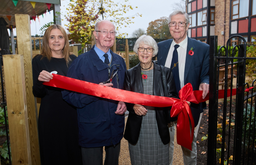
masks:
MULTIPOLYGON (((249 144, 249 131, 251 130, 251 137, 250 137, 250 145, 256 145, 256 139, 254 140, 254 142, 252 141, 253 139, 253 128, 254 128, 254 113, 255 113, 255 107, 252 106, 252 120, 251 120, 251 123, 250 123, 250 108, 251 108, 251 105, 248 104, 248 109, 247 109, 247 113, 246 113, 246 109, 244 109, 244 115, 243 115, 243 123, 246 122, 246 134, 244 132, 245 130, 245 125, 243 124, 243 134, 242 134, 242 137, 243 138, 246 138, 245 139, 245 146, 246 148, 248 148, 248 144, 249 144), (245 116, 246 116, 246 121, 245 121, 245 116), (251 128, 250 128, 251 126, 251 128)), ((254 136, 256 137, 256 132, 254 134, 254 136)), ((243 143, 243 142, 242 142, 243 143)))

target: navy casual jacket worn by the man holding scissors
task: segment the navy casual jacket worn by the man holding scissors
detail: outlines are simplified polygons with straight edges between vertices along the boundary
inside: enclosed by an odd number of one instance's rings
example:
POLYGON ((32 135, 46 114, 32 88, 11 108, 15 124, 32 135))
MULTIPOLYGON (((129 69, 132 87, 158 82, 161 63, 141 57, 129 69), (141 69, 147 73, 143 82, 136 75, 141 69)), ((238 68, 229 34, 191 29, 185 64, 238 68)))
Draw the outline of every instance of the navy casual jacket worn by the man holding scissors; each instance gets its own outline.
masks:
MULTIPOLYGON (((117 70, 119 78, 118 80, 116 76, 113 77, 112 88, 123 89, 125 62, 111 50, 110 53, 112 54, 110 72, 113 69, 114 72, 117 70)), ((79 55, 72 62, 67 77, 100 84, 109 79, 108 68, 109 66, 99 58, 93 46, 90 51, 79 55)), ((111 146, 121 141, 124 132, 124 115, 115 114, 118 101, 67 90, 62 91, 62 96, 69 104, 77 107, 81 147, 111 146)))

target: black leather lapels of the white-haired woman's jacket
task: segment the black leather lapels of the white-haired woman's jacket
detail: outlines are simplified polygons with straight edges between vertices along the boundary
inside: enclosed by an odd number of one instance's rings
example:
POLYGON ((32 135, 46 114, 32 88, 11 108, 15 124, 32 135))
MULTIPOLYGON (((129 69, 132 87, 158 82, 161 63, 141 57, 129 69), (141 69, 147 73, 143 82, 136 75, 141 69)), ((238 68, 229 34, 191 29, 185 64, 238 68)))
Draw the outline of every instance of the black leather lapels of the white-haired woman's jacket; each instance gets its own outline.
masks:
MULTIPOLYGON (((159 79, 161 77, 161 68, 159 65, 157 65, 154 61, 152 61, 154 64, 154 74, 153 74, 153 95, 156 95, 159 79)), ((142 83, 142 75, 141 75, 141 67, 140 63, 134 67, 134 74, 135 74, 135 80, 137 83, 138 91, 139 93, 143 94, 143 83, 142 83)))

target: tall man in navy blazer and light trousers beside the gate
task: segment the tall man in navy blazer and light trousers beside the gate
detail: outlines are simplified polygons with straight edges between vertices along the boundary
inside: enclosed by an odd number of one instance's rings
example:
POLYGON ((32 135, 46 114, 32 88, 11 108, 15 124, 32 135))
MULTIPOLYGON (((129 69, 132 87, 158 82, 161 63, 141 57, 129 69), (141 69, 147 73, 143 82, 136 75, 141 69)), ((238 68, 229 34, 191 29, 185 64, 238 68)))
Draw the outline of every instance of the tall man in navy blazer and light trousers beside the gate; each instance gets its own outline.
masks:
MULTIPOLYGON (((190 83, 193 90, 203 91, 205 98, 209 91, 209 48, 210 46, 187 36, 189 16, 182 10, 175 10, 168 20, 173 39, 158 43, 157 62, 172 69, 177 93, 190 83), (190 51, 192 50, 192 51, 190 51)), ((202 103, 190 105, 195 126, 198 124, 200 113, 203 112, 202 103)), ((169 124, 171 142, 169 143, 170 165, 173 163, 174 134, 177 118, 172 118, 169 124), (176 120, 176 121, 175 121, 176 120)), ((196 137, 191 144, 192 151, 182 147, 185 165, 196 164, 196 137)))

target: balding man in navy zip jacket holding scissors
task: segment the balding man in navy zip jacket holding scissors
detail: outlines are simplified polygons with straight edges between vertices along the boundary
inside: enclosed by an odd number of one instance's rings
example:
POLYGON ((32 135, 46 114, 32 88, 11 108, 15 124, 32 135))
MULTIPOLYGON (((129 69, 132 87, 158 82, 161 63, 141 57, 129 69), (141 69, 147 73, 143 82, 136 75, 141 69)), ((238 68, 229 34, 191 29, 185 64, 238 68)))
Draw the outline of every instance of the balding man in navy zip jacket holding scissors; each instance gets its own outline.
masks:
MULTIPOLYGON (((72 62, 67 76, 108 88, 123 89, 126 65, 122 57, 110 50, 115 40, 115 26, 108 20, 98 21, 93 34, 96 45, 72 62), (113 70, 117 74, 112 83, 103 84, 113 70)), ((77 107, 83 165, 102 165, 104 146, 104 164, 118 165, 120 141, 124 132, 125 103, 72 91, 63 91, 62 95, 64 100, 77 107)))

